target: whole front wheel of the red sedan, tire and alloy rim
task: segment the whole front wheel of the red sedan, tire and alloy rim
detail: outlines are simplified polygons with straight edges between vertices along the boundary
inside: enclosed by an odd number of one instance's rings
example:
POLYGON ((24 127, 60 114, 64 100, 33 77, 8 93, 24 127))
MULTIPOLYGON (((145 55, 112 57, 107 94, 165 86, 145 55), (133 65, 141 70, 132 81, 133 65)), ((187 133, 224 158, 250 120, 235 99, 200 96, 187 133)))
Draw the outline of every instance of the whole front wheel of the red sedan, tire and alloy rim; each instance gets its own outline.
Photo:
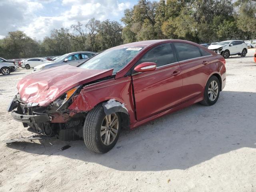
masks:
POLYGON ((88 112, 84 121, 84 143, 96 153, 106 153, 111 150, 119 137, 121 116, 118 113, 106 115, 101 105, 88 112))

